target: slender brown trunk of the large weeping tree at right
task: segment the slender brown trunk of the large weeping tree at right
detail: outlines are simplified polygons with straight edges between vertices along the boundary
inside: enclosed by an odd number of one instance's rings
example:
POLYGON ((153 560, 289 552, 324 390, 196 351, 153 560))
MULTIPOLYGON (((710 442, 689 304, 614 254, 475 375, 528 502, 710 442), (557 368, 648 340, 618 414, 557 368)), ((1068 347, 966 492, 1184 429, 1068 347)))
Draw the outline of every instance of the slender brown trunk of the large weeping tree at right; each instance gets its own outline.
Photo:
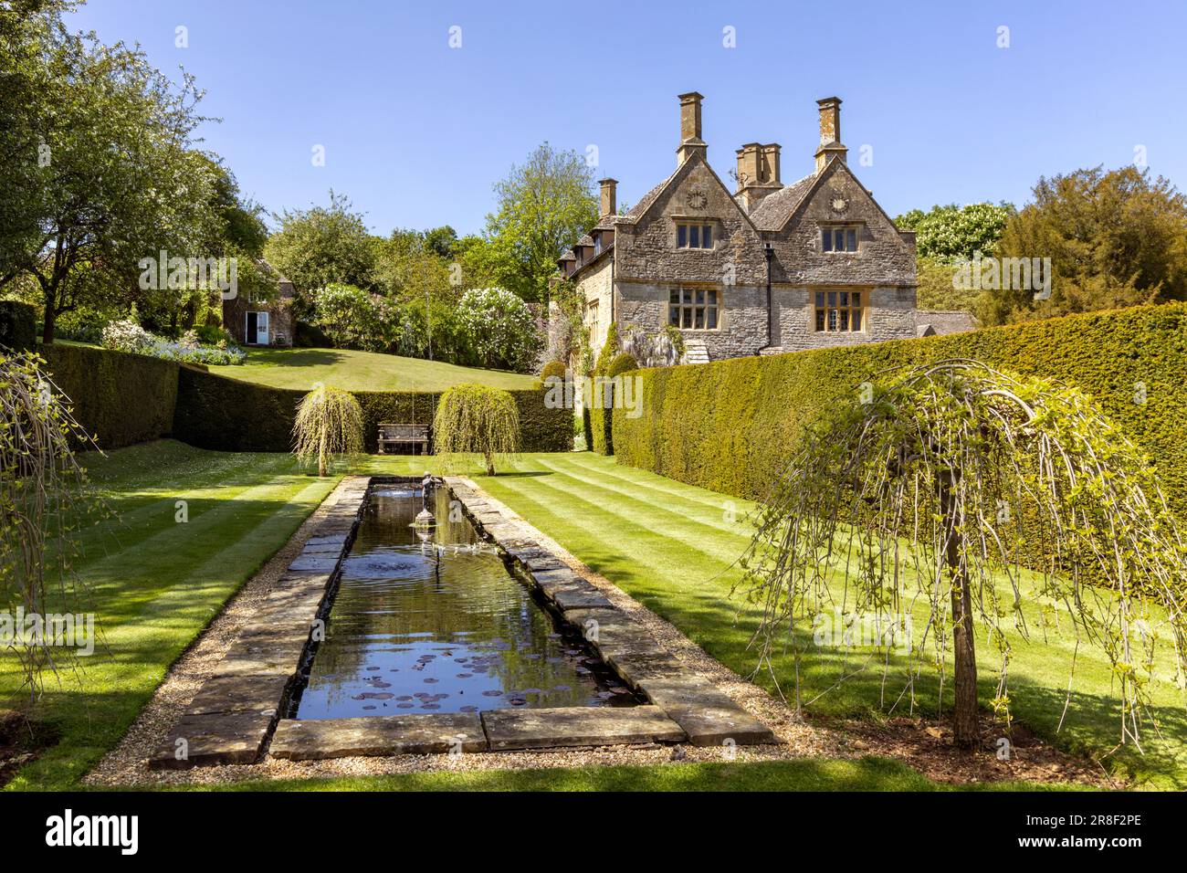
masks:
POLYGON ((977 730, 977 649, 972 624, 972 590, 969 574, 960 565, 963 534, 958 530, 959 519, 952 500, 950 483, 941 474, 940 513, 944 515, 946 542, 944 562, 952 584, 952 656, 953 688, 956 702, 952 709, 953 741, 960 748, 973 748, 978 741, 977 730))

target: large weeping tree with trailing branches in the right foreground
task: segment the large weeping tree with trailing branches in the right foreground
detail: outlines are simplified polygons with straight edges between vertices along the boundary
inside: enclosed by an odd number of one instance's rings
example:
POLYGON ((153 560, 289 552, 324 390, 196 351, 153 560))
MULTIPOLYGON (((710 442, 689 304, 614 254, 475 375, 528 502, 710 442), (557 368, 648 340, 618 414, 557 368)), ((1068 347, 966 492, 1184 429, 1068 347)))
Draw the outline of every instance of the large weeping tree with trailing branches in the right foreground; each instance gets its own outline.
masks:
MULTIPOLYGON (((1009 723, 1007 631, 1029 639, 1027 597, 1107 656, 1122 742, 1141 748, 1156 639, 1183 675, 1183 540, 1148 458, 1074 388, 971 360, 880 374, 807 429, 755 526, 738 584, 763 611, 758 669, 791 646, 798 677, 805 625, 838 605, 883 628, 922 612, 903 694, 929 664, 942 701, 951 659, 959 746, 978 741, 978 637, 1009 723)), ((876 643, 886 669, 895 641, 876 643)))

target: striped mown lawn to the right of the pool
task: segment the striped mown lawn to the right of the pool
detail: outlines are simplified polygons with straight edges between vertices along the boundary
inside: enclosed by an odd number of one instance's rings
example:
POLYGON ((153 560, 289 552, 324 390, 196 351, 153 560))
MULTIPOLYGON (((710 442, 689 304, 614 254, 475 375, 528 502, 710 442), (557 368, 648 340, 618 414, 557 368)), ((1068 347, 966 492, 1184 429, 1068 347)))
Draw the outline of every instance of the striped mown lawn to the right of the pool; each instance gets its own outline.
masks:
MULTIPOLYGON (((491 494, 535 524, 591 568, 612 580, 650 609, 672 621, 706 652, 743 675, 756 668, 748 647, 757 612, 731 587, 741 576, 735 562, 749 542, 745 513, 751 504, 662 476, 618 466, 590 453, 532 455, 519 460, 509 475, 480 476, 491 494)), ((1028 608, 1030 640, 1010 634, 1009 664, 1014 716, 1058 744, 1103 754, 1119 736, 1119 713, 1112 694, 1112 671, 1103 656, 1081 643, 1075 662, 1071 704, 1064 711, 1075 640, 1068 633, 1040 630, 1037 608, 1028 608), (1046 638, 1045 638, 1046 637, 1046 638)), ((926 613, 916 609, 915 628, 926 613)), ((1050 622, 1048 621, 1048 625, 1050 622)), ((999 657, 984 634, 979 638, 980 696, 995 696, 999 657)), ((881 664, 848 678, 864 656, 812 647, 800 668, 801 697, 818 716, 882 717, 908 711, 901 662, 891 660, 883 683, 881 664)), ((789 656, 775 659, 774 672, 788 697, 794 695, 795 668, 789 656)), ((1164 681, 1153 688, 1159 732, 1148 730, 1145 754, 1123 749, 1109 759, 1117 772, 1140 784, 1187 787, 1187 717, 1183 694, 1173 683, 1169 654, 1161 660, 1164 681), (1161 733, 1161 735, 1159 735, 1161 733)), ((755 681, 775 690, 770 675, 755 681)), ((947 691, 945 689, 945 697, 947 691)), ((939 711, 932 671, 915 683, 915 711, 939 711)))

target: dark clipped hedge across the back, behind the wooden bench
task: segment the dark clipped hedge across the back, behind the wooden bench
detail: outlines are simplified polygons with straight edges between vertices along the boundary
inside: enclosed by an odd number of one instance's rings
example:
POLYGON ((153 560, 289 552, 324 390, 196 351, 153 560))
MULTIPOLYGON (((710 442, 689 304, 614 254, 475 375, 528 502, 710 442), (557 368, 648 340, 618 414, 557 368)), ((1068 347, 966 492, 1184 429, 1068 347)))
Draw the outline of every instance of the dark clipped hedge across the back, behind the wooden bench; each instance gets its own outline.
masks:
MULTIPOLYGON (((509 392, 520 416, 523 451, 572 448, 572 411, 545 406, 542 388, 509 392)), ((363 445, 377 451, 381 422, 432 424, 438 392, 356 391, 363 410, 363 445)), ((183 367, 173 436, 191 445, 226 451, 288 451, 304 391, 273 388, 183 367)))

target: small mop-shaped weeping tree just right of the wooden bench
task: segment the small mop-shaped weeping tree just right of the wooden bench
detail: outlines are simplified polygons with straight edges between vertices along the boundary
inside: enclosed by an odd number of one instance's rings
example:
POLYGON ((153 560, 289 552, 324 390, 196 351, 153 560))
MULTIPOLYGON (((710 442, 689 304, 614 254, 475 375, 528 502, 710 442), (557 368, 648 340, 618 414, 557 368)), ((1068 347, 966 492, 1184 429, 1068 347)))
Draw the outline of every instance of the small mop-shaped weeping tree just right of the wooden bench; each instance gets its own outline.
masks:
POLYGON ((520 447, 519 407, 508 392, 485 385, 455 385, 437 404, 433 445, 438 455, 482 455, 487 475, 495 475, 495 457, 514 455, 520 447))

